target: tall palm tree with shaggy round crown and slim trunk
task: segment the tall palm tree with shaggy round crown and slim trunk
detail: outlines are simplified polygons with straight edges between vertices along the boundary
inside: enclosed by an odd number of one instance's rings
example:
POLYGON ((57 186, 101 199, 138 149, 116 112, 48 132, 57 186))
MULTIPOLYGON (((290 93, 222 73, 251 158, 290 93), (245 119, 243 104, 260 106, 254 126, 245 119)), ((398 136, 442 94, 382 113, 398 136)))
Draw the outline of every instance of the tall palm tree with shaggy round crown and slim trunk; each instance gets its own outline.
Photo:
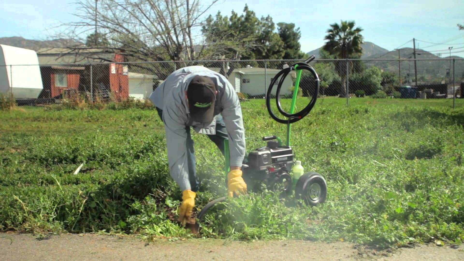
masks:
MULTIPOLYGON (((363 37, 360 34, 361 27, 354 28, 354 21, 340 21, 331 24, 326 33, 325 40, 328 42, 322 47, 329 54, 334 55, 335 59, 359 58, 362 54, 363 37)), ((342 79, 340 97, 347 97, 346 80, 347 80, 347 63, 345 61, 334 61, 335 71, 342 79)), ((349 65, 351 66, 351 65, 349 65)))

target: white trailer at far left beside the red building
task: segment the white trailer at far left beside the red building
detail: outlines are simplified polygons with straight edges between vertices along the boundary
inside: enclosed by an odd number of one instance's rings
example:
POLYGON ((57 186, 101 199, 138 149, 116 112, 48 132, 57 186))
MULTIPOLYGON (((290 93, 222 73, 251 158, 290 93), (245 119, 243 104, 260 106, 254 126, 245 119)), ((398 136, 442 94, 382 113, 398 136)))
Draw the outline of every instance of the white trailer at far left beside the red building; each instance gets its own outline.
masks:
POLYGON ((14 98, 38 98, 42 89, 37 53, 0 45, 0 93, 12 93, 14 98))

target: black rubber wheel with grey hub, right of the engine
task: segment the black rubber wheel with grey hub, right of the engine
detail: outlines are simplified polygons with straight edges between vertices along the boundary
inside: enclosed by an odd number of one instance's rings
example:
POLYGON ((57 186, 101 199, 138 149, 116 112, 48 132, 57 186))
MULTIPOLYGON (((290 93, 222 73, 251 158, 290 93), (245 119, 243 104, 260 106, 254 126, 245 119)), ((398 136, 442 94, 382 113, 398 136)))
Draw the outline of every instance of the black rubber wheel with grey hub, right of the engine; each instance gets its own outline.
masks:
POLYGON ((325 202, 327 183, 324 177, 313 171, 303 174, 296 182, 295 196, 313 207, 325 202))

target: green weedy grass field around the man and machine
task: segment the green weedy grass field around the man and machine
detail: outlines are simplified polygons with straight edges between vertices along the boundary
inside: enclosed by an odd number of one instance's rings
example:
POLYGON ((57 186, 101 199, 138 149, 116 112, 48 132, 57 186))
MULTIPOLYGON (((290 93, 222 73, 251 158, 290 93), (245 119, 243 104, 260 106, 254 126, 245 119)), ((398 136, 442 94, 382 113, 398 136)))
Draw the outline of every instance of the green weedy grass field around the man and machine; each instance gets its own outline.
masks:
MULTIPOLYGON (((450 99, 318 99, 291 142, 305 171, 326 178, 327 201, 286 207, 270 191, 252 193, 229 200, 199 236, 461 242, 464 101, 456 108, 450 99)), ((242 110, 248 151, 263 136, 285 138, 263 100, 242 110)), ((181 194, 156 111, 20 107, 0 121, 0 230, 192 236, 174 221, 181 194)), ((225 195, 224 158, 207 137, 193 139, 201 209, 225 195)))

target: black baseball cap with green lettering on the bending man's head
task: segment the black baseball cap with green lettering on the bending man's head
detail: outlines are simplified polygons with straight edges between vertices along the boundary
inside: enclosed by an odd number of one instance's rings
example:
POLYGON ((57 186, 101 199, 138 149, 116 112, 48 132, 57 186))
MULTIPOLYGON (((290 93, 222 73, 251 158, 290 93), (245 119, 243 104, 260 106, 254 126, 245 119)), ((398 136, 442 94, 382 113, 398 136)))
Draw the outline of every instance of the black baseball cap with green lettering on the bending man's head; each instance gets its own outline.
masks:
POLYGON ((214 118, 216 85, 207 76, 195 76, 187 87, 188 107, 193 121, 210 123, 214 118))

